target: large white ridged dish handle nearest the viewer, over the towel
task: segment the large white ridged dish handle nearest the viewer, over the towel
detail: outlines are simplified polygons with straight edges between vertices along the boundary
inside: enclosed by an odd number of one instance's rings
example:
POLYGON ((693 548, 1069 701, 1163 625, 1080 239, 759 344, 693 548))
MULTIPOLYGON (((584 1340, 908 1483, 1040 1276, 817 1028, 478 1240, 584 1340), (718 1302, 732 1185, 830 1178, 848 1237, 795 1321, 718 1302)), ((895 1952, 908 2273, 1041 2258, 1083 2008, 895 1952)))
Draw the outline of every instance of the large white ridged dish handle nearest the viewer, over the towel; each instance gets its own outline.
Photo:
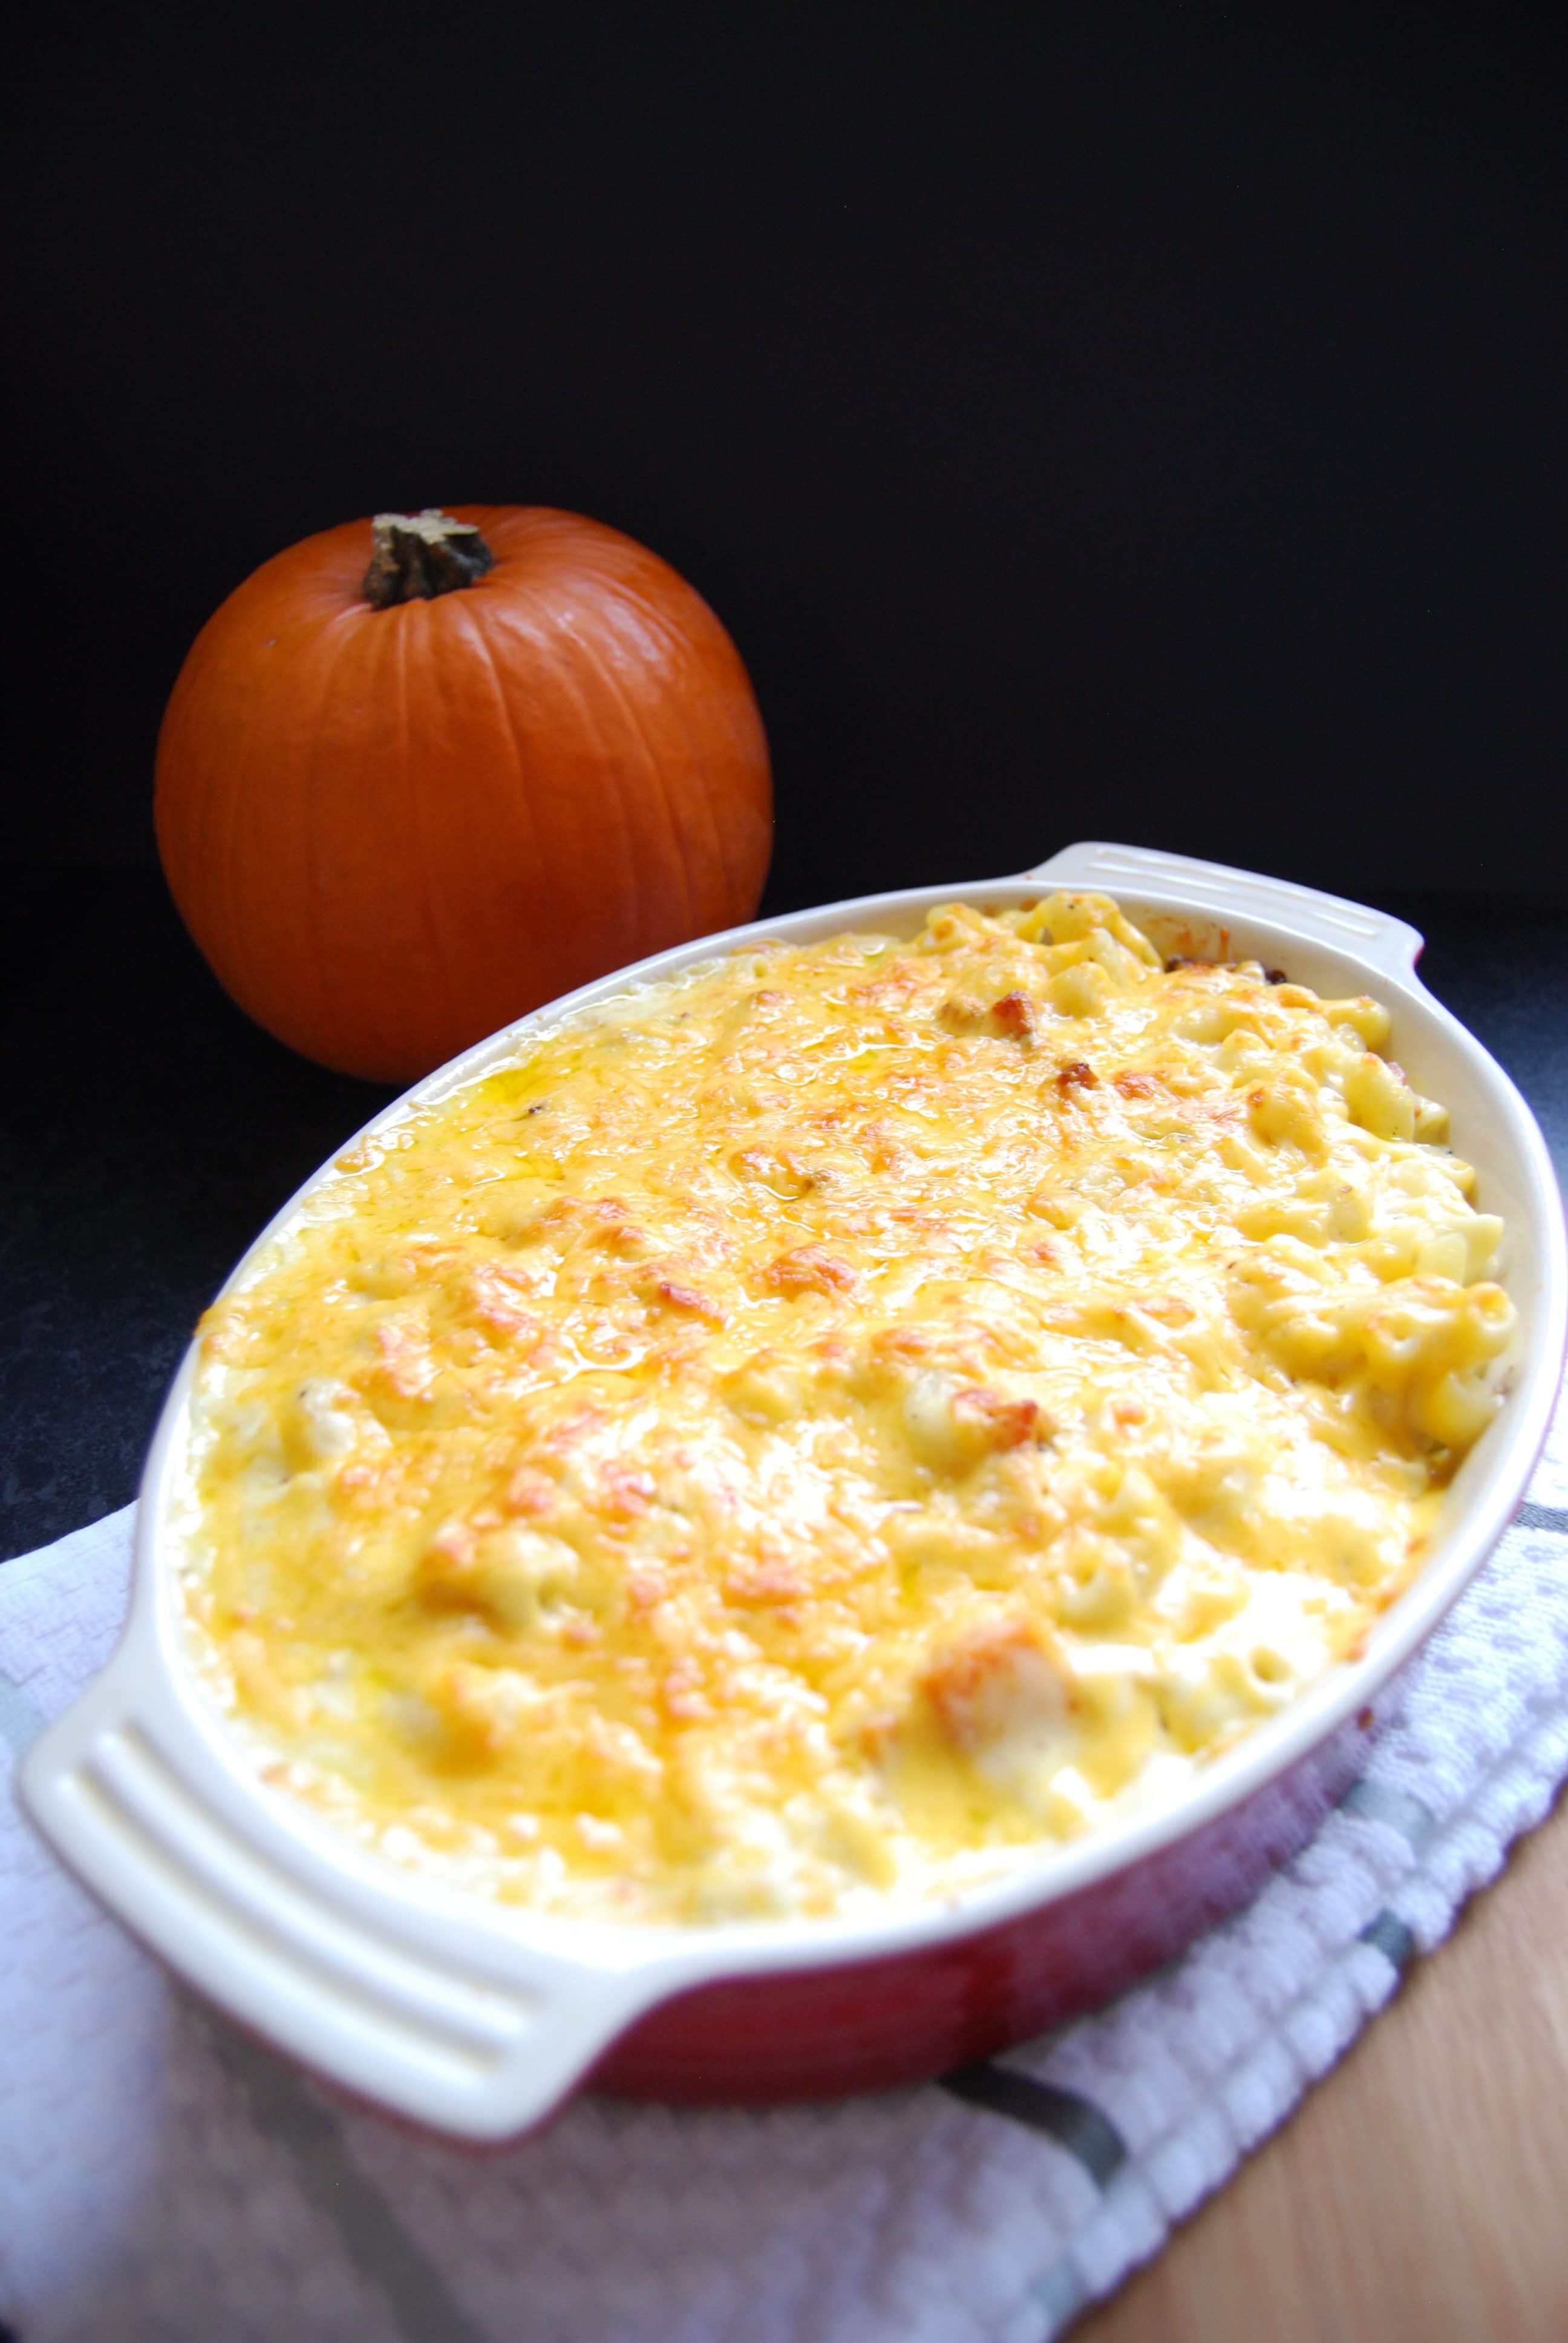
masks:
POLYGON ((230 2017, 443 2132, 544 2120, 668 1992, 649 1966, 473 1928, 272 1816, 136 1631, 33 1743, 21 1792, 77 1879, 230 2017))

